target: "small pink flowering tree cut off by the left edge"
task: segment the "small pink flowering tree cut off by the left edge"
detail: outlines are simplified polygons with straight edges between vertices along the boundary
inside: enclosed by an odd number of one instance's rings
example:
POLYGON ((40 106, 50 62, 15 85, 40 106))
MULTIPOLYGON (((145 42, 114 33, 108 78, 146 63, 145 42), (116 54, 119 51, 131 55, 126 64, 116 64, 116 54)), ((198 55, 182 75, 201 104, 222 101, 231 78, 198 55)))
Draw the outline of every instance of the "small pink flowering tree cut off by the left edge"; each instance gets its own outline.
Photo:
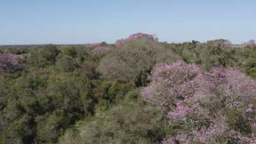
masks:
POLYGON ((20 67, 19 61, 13 54, 0 54, 0 72, 13 72, 20 67))

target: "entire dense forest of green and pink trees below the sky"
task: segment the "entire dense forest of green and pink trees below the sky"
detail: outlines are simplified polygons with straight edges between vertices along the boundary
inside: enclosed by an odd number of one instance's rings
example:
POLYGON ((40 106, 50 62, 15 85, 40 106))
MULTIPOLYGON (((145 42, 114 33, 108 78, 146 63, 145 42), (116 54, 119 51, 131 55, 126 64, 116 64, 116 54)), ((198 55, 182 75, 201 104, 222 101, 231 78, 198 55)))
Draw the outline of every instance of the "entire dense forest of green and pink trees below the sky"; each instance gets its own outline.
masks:
POLYGON ((255 144, 256 44, 0 47, 0 143, 255 144))

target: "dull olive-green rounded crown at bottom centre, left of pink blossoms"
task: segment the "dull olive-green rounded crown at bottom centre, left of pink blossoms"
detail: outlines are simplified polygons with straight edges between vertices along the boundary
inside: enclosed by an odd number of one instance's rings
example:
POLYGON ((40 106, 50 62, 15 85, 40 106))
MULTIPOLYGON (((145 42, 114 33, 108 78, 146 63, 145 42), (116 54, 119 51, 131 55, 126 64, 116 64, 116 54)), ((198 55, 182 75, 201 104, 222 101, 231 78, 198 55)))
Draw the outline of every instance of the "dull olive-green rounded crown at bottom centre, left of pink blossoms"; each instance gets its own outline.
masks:
POLYGON ((147 106, 122 104, 80 122, 60 138, 60 143, 159 143, 165 133, 156 113, 147 106))

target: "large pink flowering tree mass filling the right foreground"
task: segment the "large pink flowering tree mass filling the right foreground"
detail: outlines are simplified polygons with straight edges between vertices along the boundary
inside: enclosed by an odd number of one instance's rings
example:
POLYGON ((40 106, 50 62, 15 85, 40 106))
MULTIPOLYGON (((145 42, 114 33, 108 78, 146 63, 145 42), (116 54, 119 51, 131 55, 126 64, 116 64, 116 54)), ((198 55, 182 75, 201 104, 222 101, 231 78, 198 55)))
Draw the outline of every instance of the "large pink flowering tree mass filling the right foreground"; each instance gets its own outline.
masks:
POLYGON ((256 82, 243 72, 234 68, 205 72, 177 61, 157 65, 150 78, 141 90, 143 99, 159 106, 171 124, 189 129, 178 129, 163 144, 256 142, 256 82))

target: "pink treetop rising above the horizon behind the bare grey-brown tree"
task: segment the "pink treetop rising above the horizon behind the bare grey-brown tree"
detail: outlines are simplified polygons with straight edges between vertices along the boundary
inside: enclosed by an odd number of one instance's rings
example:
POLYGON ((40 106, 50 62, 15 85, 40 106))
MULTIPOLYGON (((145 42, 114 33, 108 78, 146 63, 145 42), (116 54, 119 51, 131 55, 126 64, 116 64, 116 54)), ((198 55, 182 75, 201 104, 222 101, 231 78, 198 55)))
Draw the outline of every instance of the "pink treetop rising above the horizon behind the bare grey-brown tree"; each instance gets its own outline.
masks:
POLYGON ((116 40, 115 45, 116 47, 121 47, 122 45, 124 45, 125 42, 140 40, 140 39, 157 41, 157 38, 154 35, 148 35, 145 33, 135 33, 133 35, 130 35, 128 38, 122 38, 120 40, 116 40))

